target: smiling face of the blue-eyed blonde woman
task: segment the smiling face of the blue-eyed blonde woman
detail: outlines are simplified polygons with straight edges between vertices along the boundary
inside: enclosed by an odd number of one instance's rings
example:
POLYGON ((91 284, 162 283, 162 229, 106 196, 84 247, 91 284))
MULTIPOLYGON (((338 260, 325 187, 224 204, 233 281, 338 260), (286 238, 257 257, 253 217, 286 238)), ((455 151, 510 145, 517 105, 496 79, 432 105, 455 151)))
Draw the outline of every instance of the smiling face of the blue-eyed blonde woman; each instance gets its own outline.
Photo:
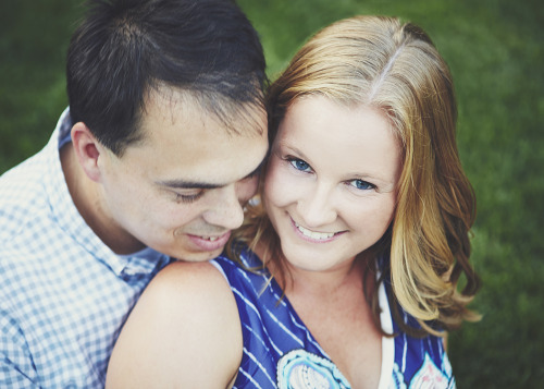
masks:
POLYGON ((390 226, 401 150, 385 116, 322 96, 288 108, 272 145, 264 204, 290 266, 349 266, 390 226))

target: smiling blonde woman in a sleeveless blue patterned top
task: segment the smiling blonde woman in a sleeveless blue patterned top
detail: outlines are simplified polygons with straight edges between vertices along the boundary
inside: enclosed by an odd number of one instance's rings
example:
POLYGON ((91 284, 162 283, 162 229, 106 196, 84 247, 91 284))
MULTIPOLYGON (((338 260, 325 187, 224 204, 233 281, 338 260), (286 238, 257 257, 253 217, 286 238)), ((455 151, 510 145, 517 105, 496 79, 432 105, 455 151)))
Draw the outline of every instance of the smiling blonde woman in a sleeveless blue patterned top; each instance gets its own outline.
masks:
POLYGON ((108 385, 455 387, 443 337, 477 319, 474 196, 430 38, 396 19, 337 22, 295 56, 268 109, 271 154, 237 263, 161 272, 108 385))

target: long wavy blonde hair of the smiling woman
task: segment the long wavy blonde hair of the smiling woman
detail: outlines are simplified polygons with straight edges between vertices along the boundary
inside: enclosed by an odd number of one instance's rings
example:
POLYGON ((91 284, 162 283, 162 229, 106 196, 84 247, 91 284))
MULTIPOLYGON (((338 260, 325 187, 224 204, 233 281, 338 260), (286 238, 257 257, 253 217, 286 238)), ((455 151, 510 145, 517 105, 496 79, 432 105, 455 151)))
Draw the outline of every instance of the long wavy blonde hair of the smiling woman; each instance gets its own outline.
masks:
MULTIPOLYGON (((384 273, 391 273, 393 302, 431 333, 477 319, 467 308, 479 288, 469 263, 475 197, 457 151, 452 75, 429 36, 413 24, 380 16, 343 20, 319 32, 269 88, 271 145, 286 109, 305 95, 380 109, 403 146, 394 221, 371 248, 390 256, 384 273), (461 275, 465 288, 458 291, 461 275)), ((250 207, 236 238, 268 247, 264 262, 283 260, 262 205, 250 207)), ((367 297, 379 323, 376 288, 367 297)), ((400 328, 417 332, 395 307, 400 328)))

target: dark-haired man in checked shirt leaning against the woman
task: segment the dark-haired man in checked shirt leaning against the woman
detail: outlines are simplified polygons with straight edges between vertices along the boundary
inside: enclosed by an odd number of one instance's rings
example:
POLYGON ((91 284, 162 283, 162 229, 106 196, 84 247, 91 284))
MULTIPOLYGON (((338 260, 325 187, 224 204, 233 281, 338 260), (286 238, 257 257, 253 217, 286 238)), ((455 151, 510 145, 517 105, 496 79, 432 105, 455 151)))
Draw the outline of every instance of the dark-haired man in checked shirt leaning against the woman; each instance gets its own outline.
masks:
POLYGON ((51 141, 0 178, 2 388, 102 387, 143 289, 221 253, 268 149, 262 48, 232 1, 96 1, 66 69, 51 141))

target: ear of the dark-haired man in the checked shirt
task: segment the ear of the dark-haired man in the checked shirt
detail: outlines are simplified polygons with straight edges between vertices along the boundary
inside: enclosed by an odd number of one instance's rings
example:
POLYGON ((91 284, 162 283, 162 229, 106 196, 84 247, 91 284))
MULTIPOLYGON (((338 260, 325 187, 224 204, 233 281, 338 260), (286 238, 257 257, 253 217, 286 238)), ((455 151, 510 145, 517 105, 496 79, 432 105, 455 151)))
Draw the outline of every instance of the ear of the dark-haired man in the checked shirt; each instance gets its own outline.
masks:
POLYGON ((104 151, 103 146, 92 135, 89 127, 84 122, 77 122, 72 126, 72 145, 79 166, 87 177, 95 181, 100 181, 100 168, 98 158, 104 151))

